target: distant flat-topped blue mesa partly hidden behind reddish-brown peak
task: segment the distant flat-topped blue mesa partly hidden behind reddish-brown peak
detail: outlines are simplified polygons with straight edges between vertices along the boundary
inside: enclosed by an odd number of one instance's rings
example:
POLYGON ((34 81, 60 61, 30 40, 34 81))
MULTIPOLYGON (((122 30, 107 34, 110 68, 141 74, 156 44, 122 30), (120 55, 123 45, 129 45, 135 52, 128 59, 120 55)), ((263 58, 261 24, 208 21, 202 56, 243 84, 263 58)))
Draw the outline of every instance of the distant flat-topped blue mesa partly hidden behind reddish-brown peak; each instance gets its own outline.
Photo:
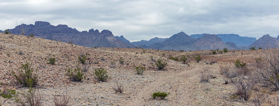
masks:
MULTIPOLYGON (((204 35, 206 34, 194 34, 191 35, 191 37, 197 39, 197 38, 201 38, 204 35)), ((235 45, 237 45, 240 48, 244 46, 248 46, 257 40, 256 38, 253 37, 243 37, 237 34, 217 34, 217 36, 221 38, 223 42, 234 42, 235 45)))

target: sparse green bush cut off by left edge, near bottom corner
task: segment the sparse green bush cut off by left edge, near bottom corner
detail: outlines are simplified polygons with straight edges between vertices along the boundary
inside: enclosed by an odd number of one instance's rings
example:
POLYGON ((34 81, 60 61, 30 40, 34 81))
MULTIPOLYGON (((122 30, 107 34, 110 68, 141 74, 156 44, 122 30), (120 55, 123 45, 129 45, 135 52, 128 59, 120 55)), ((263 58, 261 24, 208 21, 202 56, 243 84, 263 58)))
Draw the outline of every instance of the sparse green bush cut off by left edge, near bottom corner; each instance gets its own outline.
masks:
POLYGON ((4 101, 0 103, 0 106, 4 105, 4 103, 14 97, 16 94, 15 90, 9 89, 6 84, 2 84, 2 89, 0 90, 0 95, 4 98, 4 101))

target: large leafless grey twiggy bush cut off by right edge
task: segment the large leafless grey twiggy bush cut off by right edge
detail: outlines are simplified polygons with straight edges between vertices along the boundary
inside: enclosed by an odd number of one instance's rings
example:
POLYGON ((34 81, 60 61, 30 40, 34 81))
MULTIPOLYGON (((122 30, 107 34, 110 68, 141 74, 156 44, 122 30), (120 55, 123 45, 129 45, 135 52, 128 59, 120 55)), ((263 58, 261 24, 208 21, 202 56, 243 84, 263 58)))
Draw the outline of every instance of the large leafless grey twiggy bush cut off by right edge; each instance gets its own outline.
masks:
POLYGON ((279 49, 265 49, 262 51, 262 62, 255 68, 263 81, 263 86, 272 90, 279 90, 279 49))

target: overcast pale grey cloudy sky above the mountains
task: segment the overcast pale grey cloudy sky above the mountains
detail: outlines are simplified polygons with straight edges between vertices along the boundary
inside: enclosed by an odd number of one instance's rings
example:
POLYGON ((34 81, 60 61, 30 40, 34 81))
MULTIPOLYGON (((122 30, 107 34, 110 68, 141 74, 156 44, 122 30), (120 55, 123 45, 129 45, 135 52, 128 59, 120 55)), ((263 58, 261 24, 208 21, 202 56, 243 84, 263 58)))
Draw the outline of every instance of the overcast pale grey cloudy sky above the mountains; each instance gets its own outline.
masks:
POLYGON ((47 21, 133 41, 191 34, 279 35, 278 0, 1 0, 0 30, 47 21))

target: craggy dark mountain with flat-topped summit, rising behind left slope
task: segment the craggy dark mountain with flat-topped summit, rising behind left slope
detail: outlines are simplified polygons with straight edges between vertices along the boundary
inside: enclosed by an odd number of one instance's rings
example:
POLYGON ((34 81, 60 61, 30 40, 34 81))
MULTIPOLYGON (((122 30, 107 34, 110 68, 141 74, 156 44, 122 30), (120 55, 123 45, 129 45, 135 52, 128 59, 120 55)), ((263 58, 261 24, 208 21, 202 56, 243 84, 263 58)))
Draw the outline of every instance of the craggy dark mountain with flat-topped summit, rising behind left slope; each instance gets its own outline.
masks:
MULTIPOLYGON (((49 22, 43 21, 36 21, 35 25, 22 24, 22 26, 27 29, 25 35, 34 34, 40 38, 71 42, 85 47, 133 47, 131 44, 127 44, 116 39, 109 30, 99 32, 98 29, 90 29, 88 32, 80 32, 75 28, 72 29, 68 27, 67 25, 53 26, 49 22)), ((19 27, 22 26, 19 25, 14 29, 10 29, 11 33, 21 35, 19 27)))

